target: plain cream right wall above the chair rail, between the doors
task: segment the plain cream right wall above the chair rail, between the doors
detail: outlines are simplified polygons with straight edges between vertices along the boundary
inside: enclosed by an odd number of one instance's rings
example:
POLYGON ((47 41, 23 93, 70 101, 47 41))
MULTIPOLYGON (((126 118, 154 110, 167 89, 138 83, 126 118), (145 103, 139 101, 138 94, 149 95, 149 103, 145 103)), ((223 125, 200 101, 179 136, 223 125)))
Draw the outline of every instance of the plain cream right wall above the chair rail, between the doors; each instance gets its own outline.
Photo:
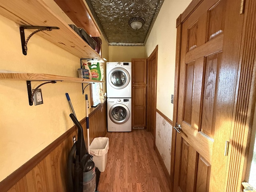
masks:
POLYGON ((173 115, 171 95, 174 94, 176 19, 190 2, 191 0, 165 0, 145 46, 148 57, 158 45, 156 108, 170 120, 173 115))

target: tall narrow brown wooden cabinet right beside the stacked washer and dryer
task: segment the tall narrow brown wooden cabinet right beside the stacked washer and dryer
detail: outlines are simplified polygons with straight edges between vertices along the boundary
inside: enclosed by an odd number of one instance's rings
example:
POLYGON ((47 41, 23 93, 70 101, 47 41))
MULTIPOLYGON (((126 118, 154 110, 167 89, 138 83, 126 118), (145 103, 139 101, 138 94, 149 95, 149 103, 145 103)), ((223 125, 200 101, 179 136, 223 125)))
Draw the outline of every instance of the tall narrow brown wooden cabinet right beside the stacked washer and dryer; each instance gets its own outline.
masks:
POLYGON ((147 59, 132 59, 132 128, 146 128, 147 59))

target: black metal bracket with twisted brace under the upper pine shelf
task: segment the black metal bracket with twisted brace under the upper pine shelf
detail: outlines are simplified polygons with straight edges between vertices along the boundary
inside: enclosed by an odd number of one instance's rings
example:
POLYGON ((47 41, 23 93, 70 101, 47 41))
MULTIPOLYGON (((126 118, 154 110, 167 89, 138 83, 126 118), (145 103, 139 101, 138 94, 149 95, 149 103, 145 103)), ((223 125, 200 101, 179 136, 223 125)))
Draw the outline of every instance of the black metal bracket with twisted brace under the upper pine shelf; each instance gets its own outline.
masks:
POLYGON ((21 39, 22 53, 24 55, 27 55, 27 50, 28 50, 27 44, 28 44, 28 40, 32 37, 32 35, 34 35, 37 32, 40 32, 40 31, 44 31, 44 30, 51 31, 53 29, 60 29, 60 28, 59 27, 47 27, 47 26, 31 26, 31 25, 20 26, 20 39, 21 39), (28 36, 28 38, 25 40, 24 29, 38 29, 38 30, 32 32, 28 36))

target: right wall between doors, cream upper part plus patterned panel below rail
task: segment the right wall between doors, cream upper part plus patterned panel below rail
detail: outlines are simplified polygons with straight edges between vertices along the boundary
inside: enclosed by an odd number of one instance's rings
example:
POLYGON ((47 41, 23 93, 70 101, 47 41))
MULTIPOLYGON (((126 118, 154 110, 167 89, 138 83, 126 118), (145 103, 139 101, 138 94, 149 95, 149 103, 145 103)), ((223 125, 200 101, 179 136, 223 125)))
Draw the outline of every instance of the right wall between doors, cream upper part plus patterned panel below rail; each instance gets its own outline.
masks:
MULTIPOLYGON (((165 0, 148 37, 145 53, 150 56, 158 45, 156 108, 170 120, 173 115, 171 95, 174 94, 176 52, 176 18, 191 0, 165 0)), ((175 123, 175 122, 174 122, 175 123)), ((170 174, 172 125, 156 114, 156 147, 170 174)))

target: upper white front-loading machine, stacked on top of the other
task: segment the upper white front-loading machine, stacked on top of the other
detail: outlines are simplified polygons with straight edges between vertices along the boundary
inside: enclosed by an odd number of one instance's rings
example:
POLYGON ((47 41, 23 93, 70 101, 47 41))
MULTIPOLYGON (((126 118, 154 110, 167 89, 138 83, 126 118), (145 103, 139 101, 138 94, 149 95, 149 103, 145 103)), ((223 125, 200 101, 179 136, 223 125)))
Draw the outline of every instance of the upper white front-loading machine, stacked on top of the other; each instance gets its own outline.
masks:
POLYGON ((132 62, 107 62, 107 98, 132 97, 132 62))

